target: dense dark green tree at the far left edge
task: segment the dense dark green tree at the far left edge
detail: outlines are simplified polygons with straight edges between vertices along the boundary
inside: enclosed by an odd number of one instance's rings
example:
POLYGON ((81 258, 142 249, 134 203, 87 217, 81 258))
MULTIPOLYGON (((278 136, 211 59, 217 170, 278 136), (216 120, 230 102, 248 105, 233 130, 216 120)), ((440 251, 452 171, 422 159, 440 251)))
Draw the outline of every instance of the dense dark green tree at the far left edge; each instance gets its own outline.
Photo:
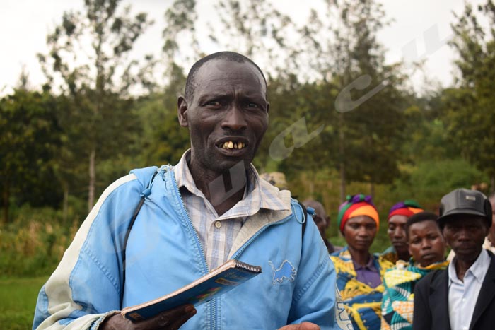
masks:
POLYGON ((0 179, 4 222, 12 196, 16 203, 57 206, 53 164, 62 129, 57 102, 48 93, 18 89, 0 99, 0 179))

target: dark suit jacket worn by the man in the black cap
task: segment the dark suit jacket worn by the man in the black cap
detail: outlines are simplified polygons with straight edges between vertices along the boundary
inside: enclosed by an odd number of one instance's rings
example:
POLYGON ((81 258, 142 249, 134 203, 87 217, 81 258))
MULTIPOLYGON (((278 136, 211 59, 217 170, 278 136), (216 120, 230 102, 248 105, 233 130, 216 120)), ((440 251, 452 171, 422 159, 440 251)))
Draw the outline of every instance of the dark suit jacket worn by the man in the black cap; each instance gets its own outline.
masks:
MULTIPOLYGON (((470 330, 495 329, 495 256, 474 306, 470 330)), ((414 288, 414 330, 450 330, 448 317, 448 269, 424 276, 414 288)), ((462 313, 462 311, 459 311, 462 313)))

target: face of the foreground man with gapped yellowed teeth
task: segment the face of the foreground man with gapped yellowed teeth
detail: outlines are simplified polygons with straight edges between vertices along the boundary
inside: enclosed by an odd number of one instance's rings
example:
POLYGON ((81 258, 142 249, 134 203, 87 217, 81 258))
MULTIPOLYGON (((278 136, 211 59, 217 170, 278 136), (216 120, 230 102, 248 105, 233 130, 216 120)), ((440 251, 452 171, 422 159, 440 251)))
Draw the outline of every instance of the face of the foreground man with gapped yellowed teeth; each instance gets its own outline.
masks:
POLYGON ((189 127, 190 167, 220 175, 251 163, 268 126, 264 80, 249 64, 206 62, 195 78, 192 100, 179 98, 179 122, 189 127))

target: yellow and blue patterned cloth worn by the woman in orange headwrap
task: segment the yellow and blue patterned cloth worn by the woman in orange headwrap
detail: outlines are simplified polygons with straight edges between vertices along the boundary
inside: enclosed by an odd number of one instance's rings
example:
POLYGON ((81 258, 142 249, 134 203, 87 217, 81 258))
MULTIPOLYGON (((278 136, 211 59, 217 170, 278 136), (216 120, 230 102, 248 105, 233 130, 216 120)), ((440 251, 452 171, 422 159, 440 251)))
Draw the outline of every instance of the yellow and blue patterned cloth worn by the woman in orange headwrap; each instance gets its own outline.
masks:
MULTIPOLYGON (((371 288, 357 281, 354 263, 347 247, 330 255, 337 271, 337 288, 342 295, 345 309, 354 326, 360 330, 378 330, 381 324, 383 284, 371 288)), ((380 254, 373 254, 373 264, 383 278, 385 271, 394 266, 380 254)))

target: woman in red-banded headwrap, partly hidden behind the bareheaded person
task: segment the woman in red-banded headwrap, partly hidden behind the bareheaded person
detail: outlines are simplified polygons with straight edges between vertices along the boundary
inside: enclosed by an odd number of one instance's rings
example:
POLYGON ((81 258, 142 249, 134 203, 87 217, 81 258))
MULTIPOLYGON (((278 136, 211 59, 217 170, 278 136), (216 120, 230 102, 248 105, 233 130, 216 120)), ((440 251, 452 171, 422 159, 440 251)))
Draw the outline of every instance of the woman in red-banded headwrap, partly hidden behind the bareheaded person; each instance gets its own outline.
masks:
POLYGON ((409 261, 411 255, 407 249, 407 240, 405 225, 407 219, 413 214, 423 211, 421 206, 412 199, 400 201, 390 208, 388 213, 387 233, 392 246, 383 252, 383 258, 392 261, 394 264, 397 260, 409 261))

